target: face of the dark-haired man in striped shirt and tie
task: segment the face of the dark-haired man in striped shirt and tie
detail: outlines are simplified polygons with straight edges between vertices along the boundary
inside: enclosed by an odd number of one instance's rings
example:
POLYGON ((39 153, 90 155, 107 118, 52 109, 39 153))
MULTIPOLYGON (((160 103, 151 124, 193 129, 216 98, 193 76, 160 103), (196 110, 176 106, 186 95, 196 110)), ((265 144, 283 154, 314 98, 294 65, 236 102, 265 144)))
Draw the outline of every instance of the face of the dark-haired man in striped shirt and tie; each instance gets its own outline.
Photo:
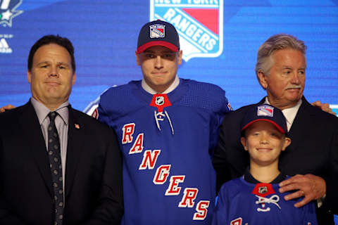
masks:
POLYGON ((58 44, 41 46, 34 54, 27 78, 33 98, 55 110, 68 100, 75 82, 70 54, 58 44))

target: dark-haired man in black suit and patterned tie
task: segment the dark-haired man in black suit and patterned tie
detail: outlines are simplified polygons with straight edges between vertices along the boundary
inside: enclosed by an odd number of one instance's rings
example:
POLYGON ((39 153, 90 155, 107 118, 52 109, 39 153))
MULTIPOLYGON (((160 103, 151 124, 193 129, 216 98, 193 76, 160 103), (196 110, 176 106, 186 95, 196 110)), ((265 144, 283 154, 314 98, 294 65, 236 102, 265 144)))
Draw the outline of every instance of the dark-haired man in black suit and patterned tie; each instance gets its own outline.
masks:
POLYGON ((49 35, 30 50, 32 98, 0 114, 0 224, 120 224, 115 133, 70 107, 74 49, 49 35))

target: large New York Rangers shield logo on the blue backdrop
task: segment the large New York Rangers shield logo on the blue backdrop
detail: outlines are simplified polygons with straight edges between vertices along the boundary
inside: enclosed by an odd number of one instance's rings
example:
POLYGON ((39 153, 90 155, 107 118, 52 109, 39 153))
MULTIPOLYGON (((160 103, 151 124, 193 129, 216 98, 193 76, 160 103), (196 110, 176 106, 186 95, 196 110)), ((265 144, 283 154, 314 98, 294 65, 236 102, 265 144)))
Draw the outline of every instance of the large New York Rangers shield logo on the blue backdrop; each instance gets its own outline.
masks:
POLYGON ((223 0, 150 0, 150 20, 173 24, 182 58, 217 57, 223 51, 223 0))

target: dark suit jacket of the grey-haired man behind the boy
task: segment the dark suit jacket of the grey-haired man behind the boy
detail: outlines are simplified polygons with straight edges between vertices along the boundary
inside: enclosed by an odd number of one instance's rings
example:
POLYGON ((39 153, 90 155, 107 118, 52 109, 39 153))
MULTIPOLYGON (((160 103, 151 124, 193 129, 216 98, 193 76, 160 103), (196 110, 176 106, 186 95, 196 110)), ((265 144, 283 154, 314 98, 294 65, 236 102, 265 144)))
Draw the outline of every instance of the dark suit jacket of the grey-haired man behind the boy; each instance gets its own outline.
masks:
MULTIPOLYGON (((265 98, 258 104, 264 101, 265 98)), ((304 97, 302 101, 289 131, 292 143, 280 155, 280 169, 290 176, 314 174, 325 179, 326 198, 318 211, 318 222, 332 224, 332 212, 338 214, 338 118, 313 107, 304 97), (321 217, 330 222, 323 222, 321 217)), ((240 129, 242 118, 250 106, 228 113, 223 120, 213 158, 218 187, 225 181, 242 176, 249 166, 249 154, 240 143, 240 129)))

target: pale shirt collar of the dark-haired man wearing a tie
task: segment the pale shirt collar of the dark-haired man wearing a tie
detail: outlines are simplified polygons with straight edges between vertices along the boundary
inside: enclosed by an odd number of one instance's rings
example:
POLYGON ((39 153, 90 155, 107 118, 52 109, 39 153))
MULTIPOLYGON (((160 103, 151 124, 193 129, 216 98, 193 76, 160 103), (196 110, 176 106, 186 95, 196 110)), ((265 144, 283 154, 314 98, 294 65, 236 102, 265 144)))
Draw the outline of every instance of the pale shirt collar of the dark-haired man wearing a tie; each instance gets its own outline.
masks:
MULTIPOLYGON (((32 103, 35 112, 37 113, 37 118, 39 119, 39 124, 41 125, 42 122, 44 122, 44 120, 46 119, 47 115, 51 112, 51 110, 49 110, 49 108, 46 108, 46 105, 40 103, 33 97, 30 98, 30 102, 32 103)), ((69 102, 65 101, 64 103, 59 105, 58 108, 56 108, 55 110, 58 113, 58 115, 60 115, 63 122, 65 122, 65 124, 68 124, 68 107, 67 107, 68 105, 69 102)))

